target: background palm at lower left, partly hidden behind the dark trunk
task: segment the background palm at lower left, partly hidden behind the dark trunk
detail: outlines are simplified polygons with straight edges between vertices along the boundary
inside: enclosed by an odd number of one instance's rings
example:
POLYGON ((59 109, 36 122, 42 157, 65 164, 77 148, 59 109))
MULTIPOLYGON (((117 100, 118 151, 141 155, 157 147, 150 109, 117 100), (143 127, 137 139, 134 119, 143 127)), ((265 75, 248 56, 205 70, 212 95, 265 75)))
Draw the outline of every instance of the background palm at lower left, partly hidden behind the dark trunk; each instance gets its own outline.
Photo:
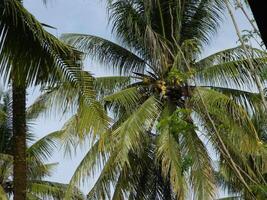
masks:
MULTIPOLYGON (((0 122, 0 197, 7 200, 14 193, 13 185, 13 156, 10 145, 12 144, 12 102, 10 92, 1 92, 1 122, 0 122), (3 142, 4 141, 4 142, 3 142)), ((37 101, 38 102, 38 101, 37 101)), ((30 125, 44 111, 45 107, 37 107, 33 104, 27 109, 27 143, 33 142, 33 134, 30 132, 30 125)), ((52 156, 56 148, 56 138, 59 132, 50 133, 32 145, 27 145, 27 199, 63 199, 67 185, 46 181, 51 176, 52 170, 57 163, 45 161, 52 156)), ((71 192, 72 199, 84 199, 82 193, 76 188, 71 192)))

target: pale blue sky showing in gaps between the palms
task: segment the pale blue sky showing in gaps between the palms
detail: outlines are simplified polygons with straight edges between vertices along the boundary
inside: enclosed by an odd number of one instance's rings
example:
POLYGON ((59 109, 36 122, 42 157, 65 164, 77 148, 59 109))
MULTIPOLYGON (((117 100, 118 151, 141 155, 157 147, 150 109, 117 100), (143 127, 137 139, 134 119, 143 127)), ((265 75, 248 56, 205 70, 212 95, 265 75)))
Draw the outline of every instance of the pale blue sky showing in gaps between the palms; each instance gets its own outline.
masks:
MULTIPOLYGON (((24 0, 24 6, 42 23, 49 24, 57 29, 49 29, 51 33, 59 37, 62 33, 85 33, 97 35, 106 39, 111 39, 111 31, 108 26, 107 12, 104 0, 47 0, 44 6, 42 0, 24 0)), ((236 18, 240 29, 250 29, 248 22, 240 13, 236 13, 236 18)), ((205 48, 203 55, 209 55, 216 51, 236 46, 237 36, 228 15, 213 38, 212 42, 205 48)), ((86 62, 86 69, 96 76, 110 74, 101 68, 97 63, 86 62)), ((106 69, 106 68, 105 68, 106 69)), ((38 96, 38 89, 28 91, 28 105, 38 96)), ((66 117, 50 116, 49 118, 39 118, 33 128, 37 138, 41 138, 47 133, 60 129, 66 117)), ((88 150, 88 149, 87 149, 88 150)), ((61 151, 57 152, 49 162, 59 162, 53 176, 49 179, 56 182, 68 183, 75 168, 86 153, 86 148, 78 150, 72 157, 63 157, 61 151)), ((92 186, 93 181, 82 187, 84 192, 92 186)))

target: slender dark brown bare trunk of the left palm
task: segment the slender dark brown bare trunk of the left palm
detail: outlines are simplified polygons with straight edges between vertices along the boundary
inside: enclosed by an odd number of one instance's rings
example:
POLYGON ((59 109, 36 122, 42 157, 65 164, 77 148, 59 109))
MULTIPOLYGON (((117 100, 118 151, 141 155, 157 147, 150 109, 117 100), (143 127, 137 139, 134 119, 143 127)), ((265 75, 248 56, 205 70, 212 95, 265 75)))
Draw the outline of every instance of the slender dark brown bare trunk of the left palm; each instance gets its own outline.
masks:
POLYGON ((14 200, 26 200, 26 87, 12 85, 14 200))

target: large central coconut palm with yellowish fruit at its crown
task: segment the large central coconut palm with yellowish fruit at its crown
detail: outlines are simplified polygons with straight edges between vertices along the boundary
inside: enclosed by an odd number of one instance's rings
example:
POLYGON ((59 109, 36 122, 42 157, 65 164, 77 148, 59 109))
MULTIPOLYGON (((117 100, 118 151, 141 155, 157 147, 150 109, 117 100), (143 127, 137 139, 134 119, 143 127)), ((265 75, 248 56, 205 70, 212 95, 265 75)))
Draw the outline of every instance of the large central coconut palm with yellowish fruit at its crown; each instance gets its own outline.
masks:
POLYGON ((69 188, 100 171, 88 199, 213 199, 212 154, 251 193, 250 175, 235 159, 249 168, 245 155, 262 148, 251 113, 263 105, 248 59, 261 75, 266 53, 238 46, 202 58, 223 8, 221 0, 110 0, 117 43, 63 36, 120 74, 94 81, 99 101, 112 113, 107 131, 88 128, 92 113, 85 110, 62 129, 70 144, 85 133, 93 136, 69 188))

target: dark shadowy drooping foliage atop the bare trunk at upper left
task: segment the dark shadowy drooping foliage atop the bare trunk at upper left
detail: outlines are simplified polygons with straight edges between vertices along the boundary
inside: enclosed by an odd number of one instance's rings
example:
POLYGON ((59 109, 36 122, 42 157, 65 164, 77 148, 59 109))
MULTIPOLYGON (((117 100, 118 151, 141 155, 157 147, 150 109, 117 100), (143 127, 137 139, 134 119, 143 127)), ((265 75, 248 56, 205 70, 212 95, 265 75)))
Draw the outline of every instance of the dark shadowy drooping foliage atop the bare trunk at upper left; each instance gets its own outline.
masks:
POLYGON ((5 80, 10 73, 29 85, 55 83, 60 77, 73 80, 72 72, 80 70, 79 52, 46 32, 19 1, 1 1, 0 9, 0 71, 5 80))

